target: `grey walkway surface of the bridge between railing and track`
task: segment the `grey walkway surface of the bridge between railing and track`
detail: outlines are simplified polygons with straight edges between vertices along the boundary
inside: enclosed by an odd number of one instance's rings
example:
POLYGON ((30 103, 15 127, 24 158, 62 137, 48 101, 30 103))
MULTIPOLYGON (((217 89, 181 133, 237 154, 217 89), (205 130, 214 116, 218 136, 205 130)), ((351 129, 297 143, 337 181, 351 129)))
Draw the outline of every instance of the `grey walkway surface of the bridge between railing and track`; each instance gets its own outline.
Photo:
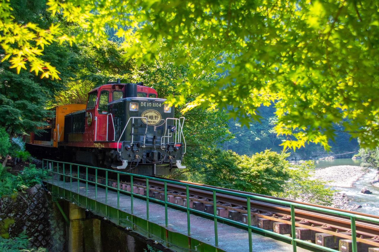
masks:
MULTIPOLYGON (((70 183, 55 180, 49 182, 60 188, 65 188, 68 191, 77 193, 77 183, 70 183), (63 185, 64 184, 64 185, 63 185)), ((86 184, 79 185, 79 194, 88 199, 95 200, 95 186, 88 185, 88 193, 86 196, 86 184)), ((97 202, 105 204, 105 188, 97 188, 97 202)), ((131 214, 131 197, 127 194, 120 194, 118 208, 121 212, 131 214)), ((107 204, 110 207, 117 209, 117 192, 108 189, 107 204)), ((142 219, 146 218, 146 200, 133 198, 133 215, 142 219)), ((90 209, 91 210, 91 209, 90 209)), ((187 235, 187 213, 168 207, 168 230, 171 232, 182 233, 187 235)), ((111 221, 114 221, 111 219, 111 221)), ((165 227, 164 205, 149 202, 149 221, 161 227, 165 227)), ((205 219, 200 216, 190 215, 191 223, 191 238, 201 241, 212 246, 215 245, 214 222, 213 220, 205 219)), ((262 235, 252 234, 253 251, 292 251, 292 245, 282 241, 274 240, 273 238, 262 235)), ((237 227, 227 224, 218 223, 218 248, 225 251, 249 251, 248 232, 237 227)), ((174 249, 174 248, 173 248, 174 249)), ((175 250, 175 249, 174 249, 175 250)), ((300 247, 297 251, 308 251, 300 247)))

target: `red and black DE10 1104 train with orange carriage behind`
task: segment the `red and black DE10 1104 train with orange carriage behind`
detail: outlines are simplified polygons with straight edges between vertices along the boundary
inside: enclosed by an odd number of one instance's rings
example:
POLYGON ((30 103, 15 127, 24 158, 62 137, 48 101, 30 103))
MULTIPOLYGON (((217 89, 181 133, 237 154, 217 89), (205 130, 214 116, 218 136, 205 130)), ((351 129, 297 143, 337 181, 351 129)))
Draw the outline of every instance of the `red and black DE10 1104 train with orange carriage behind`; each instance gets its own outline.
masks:
POLYGON ((143 83, 117 79, 91 90, 86 105, 52 110, 56 116, 50 119, 54 123, 45 141, 31 134, 33 148, 49 147, 65 160, 144 175, 167 175, 185 168, 185 118, 175 118, 174 108, 143 83))

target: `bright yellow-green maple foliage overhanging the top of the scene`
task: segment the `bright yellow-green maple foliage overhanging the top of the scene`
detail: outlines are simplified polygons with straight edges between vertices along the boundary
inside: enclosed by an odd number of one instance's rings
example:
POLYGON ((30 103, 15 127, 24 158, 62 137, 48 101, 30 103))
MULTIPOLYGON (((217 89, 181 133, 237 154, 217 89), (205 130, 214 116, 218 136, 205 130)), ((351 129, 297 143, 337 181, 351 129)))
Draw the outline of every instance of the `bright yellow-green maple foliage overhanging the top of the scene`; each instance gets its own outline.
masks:
POLYGON ((56 69, 39 57, 45 45, 86 40, 99 46, 112 28, 125 58, 138 65, 182 45, 174 63, 187 62, 189 77, 170 101, 181 106, 183 97, 196 94, 186 110, 231 106, 230 116, 247 125, 258 118, 259 106, 277 101, 275 129, 287 136, 284 147, 315 142, 329 149, 333 123, 340 121, 362 146, 379 142, 376 2, 49 0, 47 5, 85 33, 65 34, 54 23, 48 28, 19 23, 9 2, 2 2, 3 59, 17 71, 29 65, 42 77, 57 78, 56 69), (197 76, 214 68, 225 76, 204 89, 207 82, 197 76))

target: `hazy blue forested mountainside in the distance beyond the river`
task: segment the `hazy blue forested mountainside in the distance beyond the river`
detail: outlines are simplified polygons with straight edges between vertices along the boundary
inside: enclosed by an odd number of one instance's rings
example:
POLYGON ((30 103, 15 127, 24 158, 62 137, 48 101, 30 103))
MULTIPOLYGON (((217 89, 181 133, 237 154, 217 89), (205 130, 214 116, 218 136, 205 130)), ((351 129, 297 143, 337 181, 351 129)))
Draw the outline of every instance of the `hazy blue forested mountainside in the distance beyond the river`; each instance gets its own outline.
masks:
MULTIPOLYGON (((274 131, 274 125, 277 121, 274 106, 260 107, 258 111, 262 119, 260 122, 250 123, 249 128, 246 126, 241 127, 238 121, 229 120, 228 124, 234 138, 223 143, 224 149, 231 149, 240 155, 252 155, 265 149, 271 149, 276 152, 283 150, 283 146, 280 146, 280 144, 285 138, 277 136, 274 131)), ((350 139, 349 134, 343 132, 343 127, 339 124, 335 125, 335 129, 337 133, 334 141, 329 140, 330 152, 326 152, 320 145, 310 143, 305 145, 306 148, 296 149, 296 152, 292 150, 289 159, 315 159, 332 154, 358 151, 359 145, 356 138, 350 139)), ((349 158, 354 154, 357 154, 357 152, 336 157, 349 158)))

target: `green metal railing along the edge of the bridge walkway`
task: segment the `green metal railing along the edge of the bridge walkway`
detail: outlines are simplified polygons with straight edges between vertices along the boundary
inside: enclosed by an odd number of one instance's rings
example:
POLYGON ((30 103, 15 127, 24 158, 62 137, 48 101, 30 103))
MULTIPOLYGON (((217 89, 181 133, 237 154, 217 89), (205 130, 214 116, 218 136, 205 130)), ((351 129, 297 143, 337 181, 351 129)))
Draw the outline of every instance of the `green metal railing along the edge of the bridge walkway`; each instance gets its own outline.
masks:
MULTIPOLYGON (((95 186, 95 200, 97 199, 98 186, 105 188, 105 205, 108 202, 108 188, 110 190, 117 191, 117 208, 120 207, 120 192, 124 193, 124 194, 129 194, 130 200, 131 200, 130 211, 132 214, 132 223, 133 223, 133 198, 134 198, 134 196, 138 196, 139 198, 146 199, 146 218, 147 218, 147 220, 149 220, 149 202, 150 201, 159 202, 161 204, 164 204, 164 212, 165 212, 164 218, 165 218, 166 228, 168 227, 168 210, 167 210, 168 206, 172 206, 172 207, 180 208, 180 209, 184 210, 187 214, 187 235, 188 235, 188 237, 191 236, 190 214, 191 213, 197 213, 199 215, 207 216, 208 218, 213 219, 214 224, 215 224, 214 225, 215 247, 218 247, 218 226, 217 226, 218 221, 227 222, 230 224, 234 224, 235 226, 247 229, 248 230, 248 237, 249 237, 249 251, 250 252, 253 251, 253 242, 252 242, 252 232, 253 231, 255 231, 257 233, 265 233, 267 235, 280 238, 282 240, 287 240, 289 243, 292 243, 294 252, 296 252, 296 248, 297 248, 298 244, 304 244, 306 246, 310 246, 310 247, 313 247, 315 249, 320 249, 320 250, 324 250, 324 251, 338 252, 338 250, 335 250, 335 249, 327 248, 324 246, 320 246, 318 244, 314 244, 314 243, 311 243, 308 241, 297 239, 296 238, 296 229, 295 229, 296 226, 305 227, 305 228, 308 228, 311 230, 318 231, 320 233, 332 233, 335 236, 340 236, 342 238, 349 239, 352 241, 352 251, 353 252, 358 251, 357 250, 357 241, 359 241, 361 243, 368 243, 368 244, 371 244, 372 246, 379 247, 379 243, 376 243, 373 241, 367 241, 367 240, 364 240, 362 238, 357 238, 356 237, 357 236, 357 234, 356 234, 356 223, 355 223, 356 220, 362 220, 362 221, 368 221, 368 222, 373 222, 373 223, 379 224, 379 217, 378 218, 372 218, 372 217, 368 217, 368 216, 362 216, 362 215, 352 214, 352 213, 348 213, 348 212, 340 212, 337 210, 332 210, 332 209, 322 208, 322 207, 316 207, 313 205, 306 205, 306 204, 301 204, 301 203, 297 203, 297 202, 289 202, 289 201, 282 201, 279 199, 265 198, 262 196, 255 196, 255 195, 251 195, 251 194, 239 193, 239 192, 234 192, 234 191, 227 191, 227 190, 222 190, 222 189, 218 189, 218 188, 206 187, 206 186, 202 186, 202 185, 193 185, 193 184, 189 185, 189 184, 186 184, 184 182, 165 180, 165 179, 160 179, 160 178, 156 178, 156 177, 149 177, 149 176, 125 173, 125 172, 116 171, 116 170, 108 170, 105 168, 99 168, 99 167, 94 167, 94 166, 78 165, 78 164, 74 164, 74 163, 59 162, 59 161, 48 160, 48 159, 42 160, 42 173, 43 174, 50 174, 50 176, 47 176, 44 178, 44 180, 50 184, 54 184, 54 182, 55 182, 55 176, 54 175, 56 175, 56 180, 57 180, 56 185, 58 185, 58 187, 60 186, 60 182, 61 182, 60 176, 63 176, 63 182, 62 182, 63 188, 66 187, 66 183, 65 183, 66 177, 69 177, 69 179, 70 179, 69 190, 70 191, 72 191, 72 182, 73 182, 72 180, 73 179, 77 180, 77 193, 78 194, 79 194, 80 181, 85 183, 86 196, 88 196, 88 184, 93 184, 95 186), (54 166, 54 164, 56 166, 54 166), (67 165, 69 165, 69 169, 70 169, 69 173, 66 172, 66 166, 67 165), (73 173, 72 173, 73 166, 75 166, 75 168, 77 168, 75 170, 77 172, 76 176, 73 176, 73 173), (85 171, 86 171, 86 178, 85 179, 80 178, 80 175, 79 175, 80 174, 80 168, 85 168, 85 171), (88 180, 88 169, 92 169, 95 171, 94 172, 94 174, 95 174, 94 180, 95 181, 88 180), (47 173, 44 171, 47 171, 47 173), (61 173, 60 173, 60 171, 61 171, 61 173), (102 171, 105 173, 105 184, 98 182, 98 171, 102 171), (117 188, 111 187, 108 185, 108 174, 109 173, 116 173, 117 174, 117 188), (130 176, 130 191, 120 189, 120 175, 130 176), (146 180, 146 195, 141 195, 141 194, 133 192, 133 185, 134 185, 133 184, 133 178, 134 177, 138 177, 138 178, 142 178, 142 179, 146 180), (164 201, 162 201, 160 199, 155 199, 155 198, 152 198, 149 196, 149 181, 150 180, 164 183, 164 201), (177 204, 168 202, 168 198, 167 198, 167 193, 168 193, 167 192, 167 184, 168 183, 180 185, 180 186, 183 186, 186 188, 186 197, 185 197, 186 206, 177 205, 177 204), (213 205, 213 214, 202 212, 202 211, 190 208, 189 187, 201 189, 201 190, 207 190, 207 191, 211 191, 213 193, 213 202, 208 202, 208 204, 213 205), (224 195, 231 195, 231 196, 238 196, 238 197, 246 198, 246 201, 247 201, 247 224, 218 216, 216 214, 216 207, 217 207, 217 203, 216 203, 216 196, 217 195, 216 195, 216 193, 222 193, 224 195), (275 233, 275 232, 272 232, 269 230, 260 229, 258 227, 252 226, 251 225, 251 216, 252 215, 260 216, 260 215, 258 213, 251 213, 251 204, 250 204, 251 200, 258 200, 258 201, 263 201, 263 202, 268 202, 268 203, 287 205, 288 207, 290 207, 290 209, 291 209, 291 220, 290 221, 277 219, 277 218, 276 219, 272 218, 272 219, 275 220, 276 222, 284 222, 284 223, 290 224, 291 225, 291 236, 282 235, 279 233, 275 233), (305 210, 312 210, 312 211, 317 211, 317 212, 321 212, 321 213, 331 214, 331 215, 337 215, 339 217, 345 217, 347 219, 350 219, 350 221, 351 221, 351 236, 343 235, 343 234, 335 233, 335 232, 330 232, 328 230, 318 229, 317 227, 310 227, 310 226, 305 226, 305 225, 296 223, 295 222, 295 207, 305 209, 305 210)), ((93 176, 93 175, 91 174, 91 176, 93 176)), ((68 188, 67 188, 67 190, 68 190, 68 188)), ((106 208, 106 210, 107 210, 107 208, 106 208)), ((262 217, 270 219, 269 216, 262 216, 262 217)), ((147 232, 149 233, 149 221, 147 222, 147 232)), ((167 232, 166 232, 166 242, 168 242, 167 232)), ((190 246, 191 245, 189 244, 189 248, 190 248, 190 246)))

